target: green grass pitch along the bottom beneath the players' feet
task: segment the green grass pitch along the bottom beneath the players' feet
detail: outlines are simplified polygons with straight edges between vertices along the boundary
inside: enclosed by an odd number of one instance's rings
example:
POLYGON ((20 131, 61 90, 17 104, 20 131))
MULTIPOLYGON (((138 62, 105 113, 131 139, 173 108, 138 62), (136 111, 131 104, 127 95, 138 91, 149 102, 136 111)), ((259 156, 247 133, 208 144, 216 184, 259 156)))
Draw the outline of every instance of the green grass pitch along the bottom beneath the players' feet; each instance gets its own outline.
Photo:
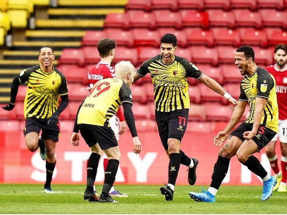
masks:
MULTIPOLYGON (((101 185, 96 185, 100 191, 101 185)), ((215 203, 194 202, 190 191, 201 186, 176 186, 172 202, 165 202, 160 185, 116 185, 128 198, 120 203, 84 202, 85 185, 52 185, 53 194, 43 185, 0 184, 1 214, 287 214, 287 193, 274 192, 260 201, 262 187, 222 186, 215 203)), ((208 188, 208 186, 205 186, 208 188)))

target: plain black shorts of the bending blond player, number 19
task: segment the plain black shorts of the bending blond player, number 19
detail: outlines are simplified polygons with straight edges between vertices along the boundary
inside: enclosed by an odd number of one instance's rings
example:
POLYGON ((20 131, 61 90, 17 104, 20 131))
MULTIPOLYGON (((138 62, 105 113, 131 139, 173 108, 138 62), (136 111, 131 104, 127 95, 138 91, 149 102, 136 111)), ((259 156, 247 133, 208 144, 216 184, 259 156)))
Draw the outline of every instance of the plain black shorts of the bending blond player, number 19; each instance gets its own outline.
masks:
POLYGON ((82 137, 89 147, 99 144, 102 150, 118 146, 114 131, 107 126, 78 124, 82 137))

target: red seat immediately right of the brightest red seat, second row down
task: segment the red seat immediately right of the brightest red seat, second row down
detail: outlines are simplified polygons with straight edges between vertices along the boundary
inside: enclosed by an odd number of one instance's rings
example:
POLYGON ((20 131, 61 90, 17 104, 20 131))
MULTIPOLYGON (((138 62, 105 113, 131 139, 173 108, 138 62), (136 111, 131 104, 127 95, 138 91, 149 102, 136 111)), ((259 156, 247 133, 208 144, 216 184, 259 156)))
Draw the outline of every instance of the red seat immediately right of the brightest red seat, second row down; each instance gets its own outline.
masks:
POLYGON ((235 27, 235 18, 232 12, 223 10, 208 10, 210 26, 216 27, 235 27))

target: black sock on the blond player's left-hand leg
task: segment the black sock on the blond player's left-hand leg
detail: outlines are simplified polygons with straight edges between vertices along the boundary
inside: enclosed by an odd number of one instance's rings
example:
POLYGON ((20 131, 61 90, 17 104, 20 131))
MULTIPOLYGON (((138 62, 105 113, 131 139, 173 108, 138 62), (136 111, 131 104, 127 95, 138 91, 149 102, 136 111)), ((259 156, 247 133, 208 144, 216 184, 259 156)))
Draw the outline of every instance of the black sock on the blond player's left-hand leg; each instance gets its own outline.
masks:
POLYGON ((97 169, 99 165, 100 155, 92 152, 87 165, 87 187, 86 191, 94 191, 94 183, 97 175, 97 169))

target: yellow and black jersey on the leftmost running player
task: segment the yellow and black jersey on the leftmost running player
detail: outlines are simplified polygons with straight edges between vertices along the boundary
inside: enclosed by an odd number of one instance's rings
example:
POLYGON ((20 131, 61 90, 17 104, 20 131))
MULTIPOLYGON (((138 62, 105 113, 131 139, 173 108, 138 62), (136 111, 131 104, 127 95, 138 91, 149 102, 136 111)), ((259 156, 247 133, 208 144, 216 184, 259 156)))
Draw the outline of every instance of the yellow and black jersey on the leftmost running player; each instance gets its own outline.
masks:
POLYGON ((40 65, 21 71, 20 82, 28 82, 24 100, 24 116, 48 119, 58 109, 59 96, 68 94, 65 76, 53 66, 45 73, 40 65))

